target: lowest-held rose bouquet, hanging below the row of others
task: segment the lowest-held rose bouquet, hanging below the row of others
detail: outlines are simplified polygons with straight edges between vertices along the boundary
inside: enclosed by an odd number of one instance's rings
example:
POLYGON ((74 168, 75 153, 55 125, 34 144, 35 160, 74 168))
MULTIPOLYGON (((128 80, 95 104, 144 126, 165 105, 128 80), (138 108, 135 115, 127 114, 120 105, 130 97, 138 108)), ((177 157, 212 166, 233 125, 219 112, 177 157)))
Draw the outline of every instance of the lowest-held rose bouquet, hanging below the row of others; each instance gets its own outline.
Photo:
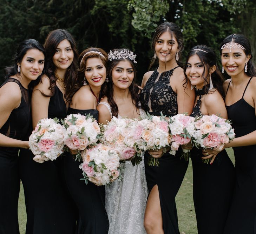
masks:
POLYGON ((119 155, 108 146, 99 143, 96 147, 85 149, 82 154, 83 163, 79 166, 83 171, 85 183, 107 185, 119 177, 119 155))

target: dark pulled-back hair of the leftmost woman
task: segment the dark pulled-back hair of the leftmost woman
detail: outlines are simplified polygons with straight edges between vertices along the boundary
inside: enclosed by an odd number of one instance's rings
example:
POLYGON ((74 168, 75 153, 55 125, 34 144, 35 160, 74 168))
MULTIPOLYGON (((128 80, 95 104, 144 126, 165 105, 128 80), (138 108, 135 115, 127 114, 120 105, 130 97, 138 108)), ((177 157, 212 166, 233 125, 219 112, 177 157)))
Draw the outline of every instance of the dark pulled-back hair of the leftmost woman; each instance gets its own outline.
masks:
MULTIPOLYGON (((17 76, 20 75, 19 72, 18 72, 17 63, 21 63, 24 55, 27 53, 27 51, 29 49, 38 49, 46 57, 45 48, 37 40, 27 39, 27 40, 24 40, 24 41, 20 42, 20 44, 18 45, 18 47, 16 49, 16 52, 13 56, 13 65, 4 68, 4 77, 5 77, 5 79, 7 79, 7 78, 9 78, 10 76, 13 76, 13 75, 17 75, 17 76)), ((44 70, 42 71, 42 74, 45 73, 45 70, 46 70, 46 66, 44 66, 44 70)), ((41 79, 41 75, 38 76, 37 81, 41 79)), ((34 86, 35 82, 36 81, 30 82, 29 83, 29 88, 32 88, 34 86)))

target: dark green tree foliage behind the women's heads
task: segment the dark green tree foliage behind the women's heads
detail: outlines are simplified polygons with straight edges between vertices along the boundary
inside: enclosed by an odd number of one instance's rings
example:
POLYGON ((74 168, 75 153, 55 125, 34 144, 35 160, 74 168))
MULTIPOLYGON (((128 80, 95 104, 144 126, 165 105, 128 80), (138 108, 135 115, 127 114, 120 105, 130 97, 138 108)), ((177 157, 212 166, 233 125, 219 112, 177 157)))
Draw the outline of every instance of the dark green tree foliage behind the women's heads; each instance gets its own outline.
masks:
MULTIPOLYGON (((184 34, 185 56, 197 44, 218 54, 219 43, 243 33, 256 52, 254 0, 0 0, 0 83, 20 41, 44 43, 53 29, 66 28, 79 52, 96 46, 109 52, 130 48, 137 54, 138 80, 147 71, 151 36, 157 25, 175 22, 184 34)), ((254 56, 255 57, 255 56, 254 56)))

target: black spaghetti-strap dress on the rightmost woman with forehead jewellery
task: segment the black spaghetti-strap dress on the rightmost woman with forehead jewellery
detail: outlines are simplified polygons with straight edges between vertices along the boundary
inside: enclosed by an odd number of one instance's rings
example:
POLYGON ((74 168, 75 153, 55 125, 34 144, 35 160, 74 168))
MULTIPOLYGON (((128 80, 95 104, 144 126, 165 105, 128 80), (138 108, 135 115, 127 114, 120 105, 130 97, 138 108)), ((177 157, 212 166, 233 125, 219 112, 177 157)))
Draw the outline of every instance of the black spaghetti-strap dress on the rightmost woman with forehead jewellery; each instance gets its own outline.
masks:
MULTIPOLYGON (((236 137, 256 130, 255 108, 243 98, 251 79, 252 77, 247 83, 242 98, 227 106, 236 137)), ((256 145, 233 147, 233 150, 236 160, 236 184, 224 233, 256 234, 256 145)))

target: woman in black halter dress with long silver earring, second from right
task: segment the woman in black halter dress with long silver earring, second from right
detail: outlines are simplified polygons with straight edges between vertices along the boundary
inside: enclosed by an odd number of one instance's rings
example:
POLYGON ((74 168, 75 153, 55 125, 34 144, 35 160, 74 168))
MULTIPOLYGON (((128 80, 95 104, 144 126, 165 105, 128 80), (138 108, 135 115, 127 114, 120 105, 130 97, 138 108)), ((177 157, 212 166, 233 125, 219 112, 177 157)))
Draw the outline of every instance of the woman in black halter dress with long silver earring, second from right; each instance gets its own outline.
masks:
MULTIPOLYGON (((184 73, 192 87, 196 87, 191 116, 215 114, 227 119, 222 87, 224 80, 217 67, 214 51, 204 45, 193 47, 187 56, 184 73)), ((202 161, 202 149, 194 147, 190 153, 198 234, 221 234, 232 201, 235 185, 234 165, 225 150, 219 153, 211 164, 202 161)))

